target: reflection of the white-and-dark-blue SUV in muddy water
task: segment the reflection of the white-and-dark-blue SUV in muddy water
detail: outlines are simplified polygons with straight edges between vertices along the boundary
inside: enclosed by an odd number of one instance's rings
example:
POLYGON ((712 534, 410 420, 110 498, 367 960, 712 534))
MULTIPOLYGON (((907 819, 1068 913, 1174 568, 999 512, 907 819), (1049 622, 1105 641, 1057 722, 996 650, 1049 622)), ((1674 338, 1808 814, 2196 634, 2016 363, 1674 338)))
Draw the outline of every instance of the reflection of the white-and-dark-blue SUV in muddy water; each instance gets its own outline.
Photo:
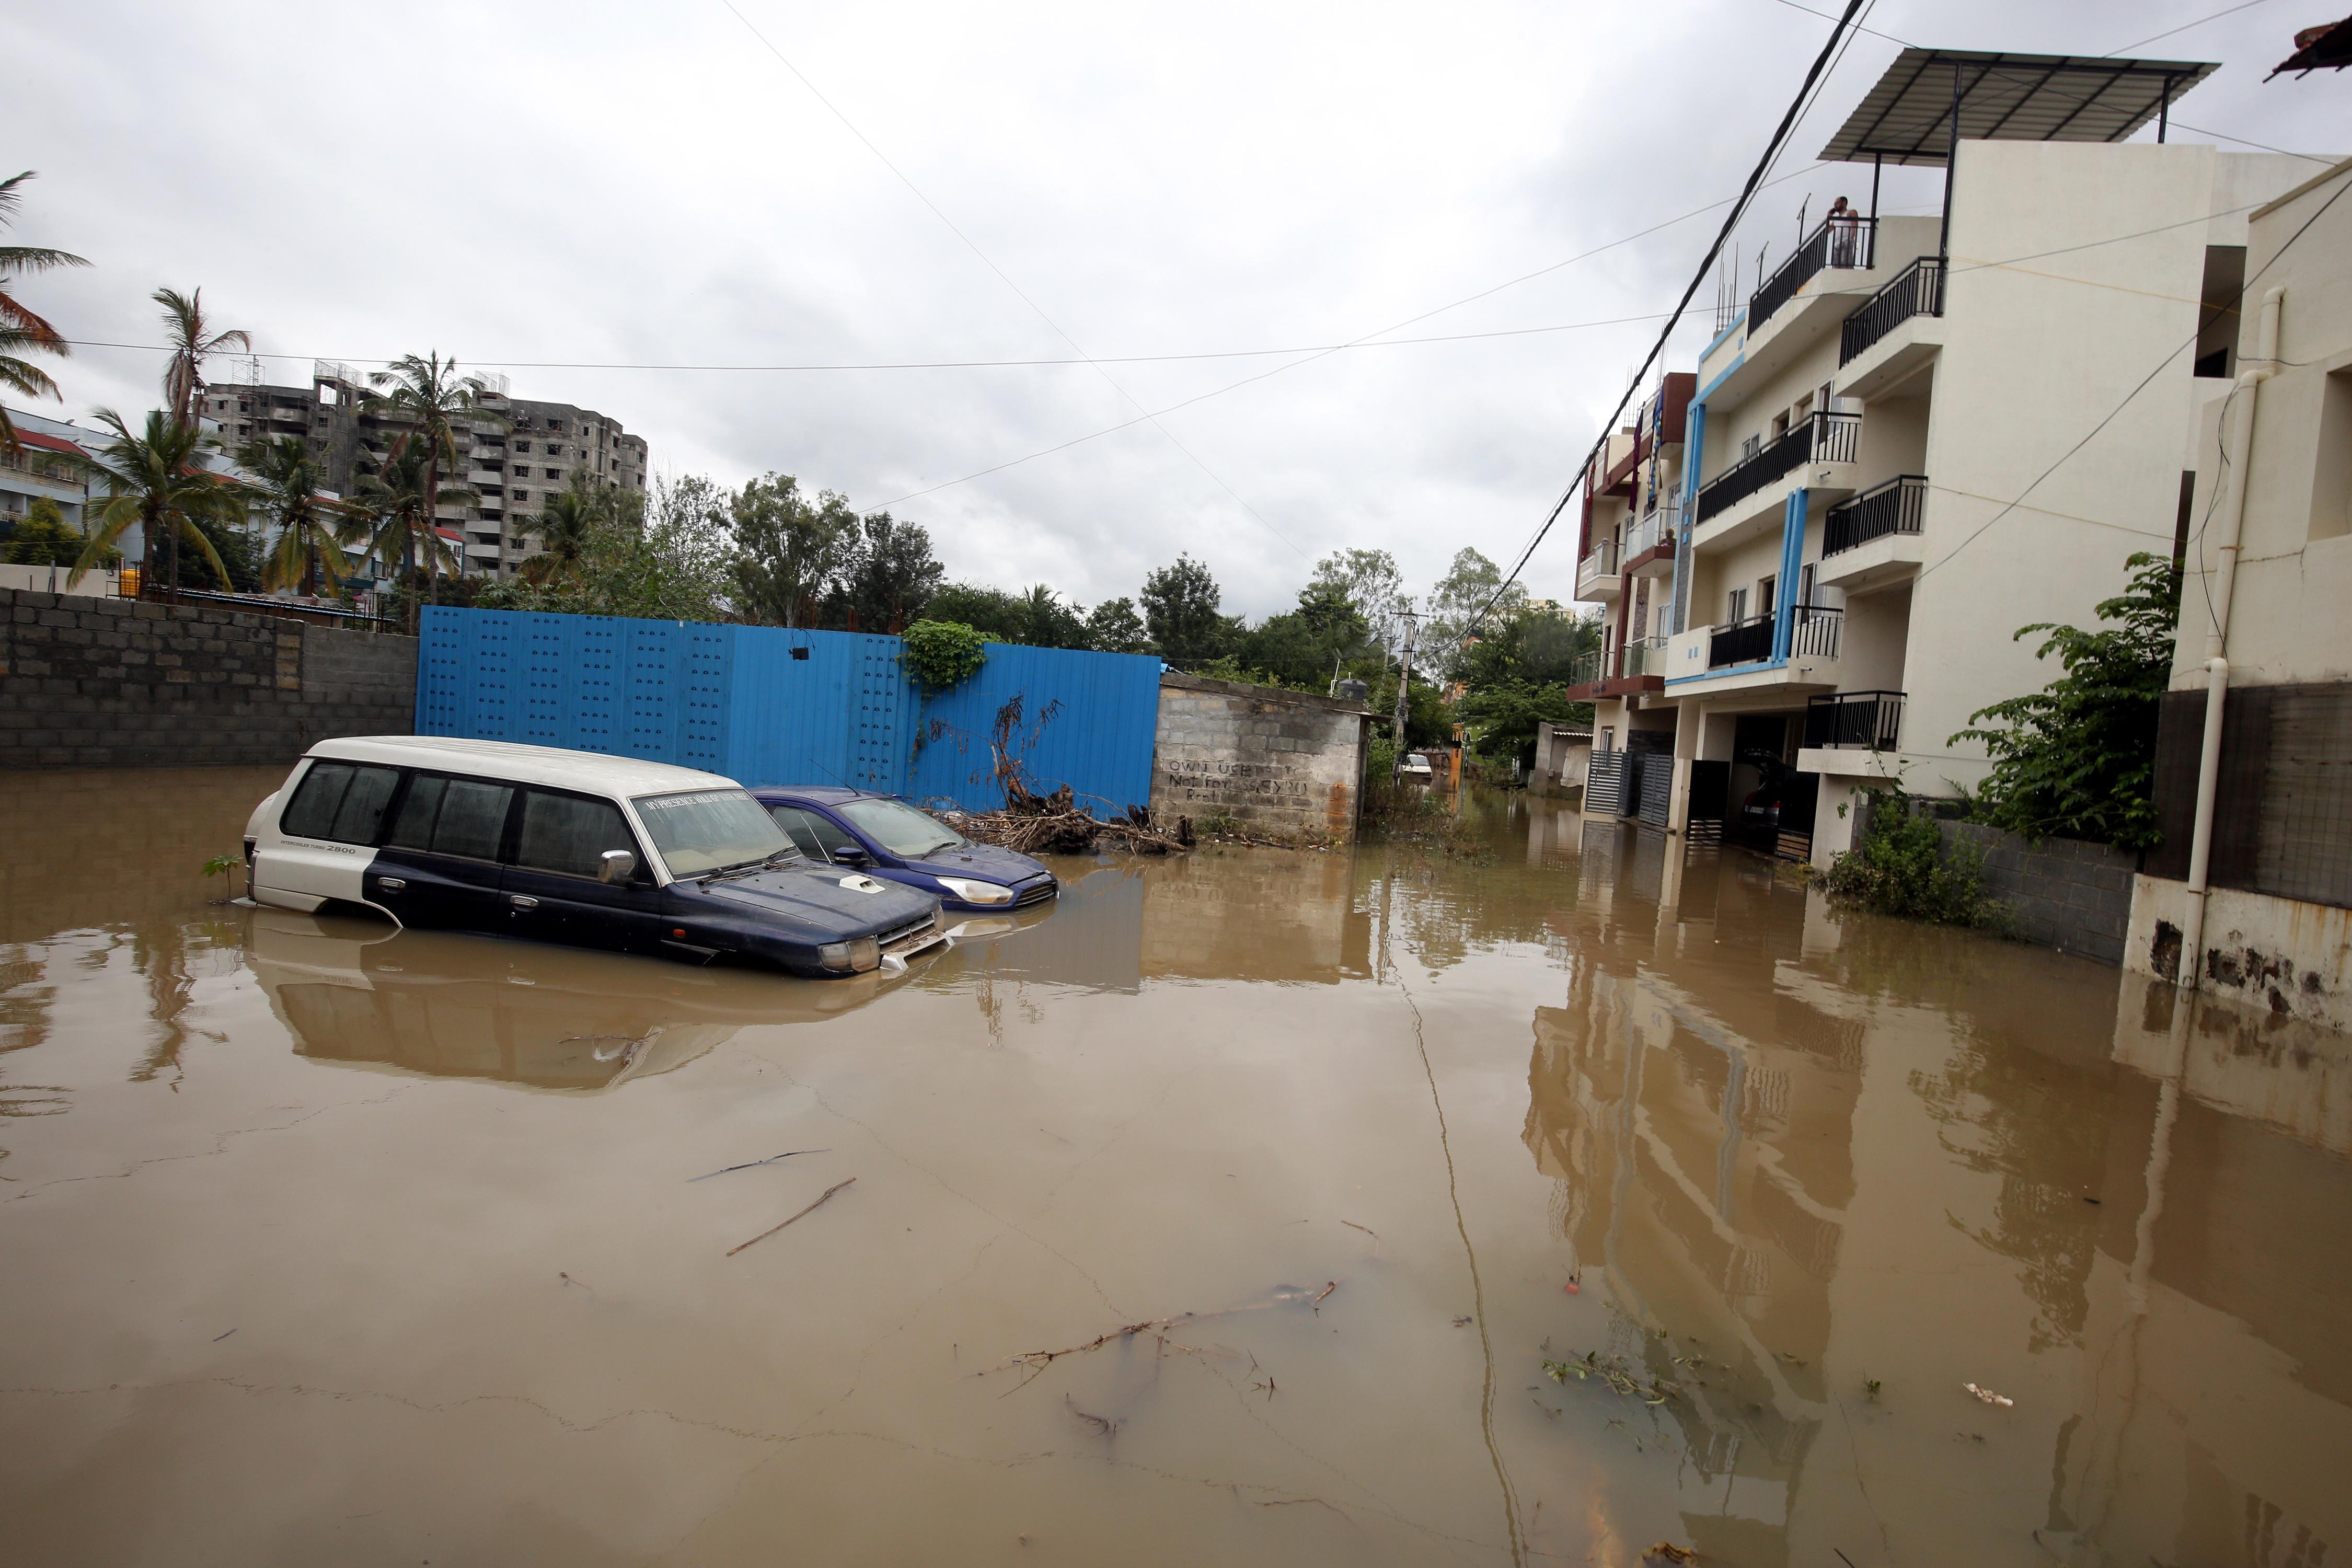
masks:
POLYGON ((793 980, 254 910, 247 961, 313 1060, 532 1088, 670 1072, 743 1025, 821 1023, 903 976, 793 980))

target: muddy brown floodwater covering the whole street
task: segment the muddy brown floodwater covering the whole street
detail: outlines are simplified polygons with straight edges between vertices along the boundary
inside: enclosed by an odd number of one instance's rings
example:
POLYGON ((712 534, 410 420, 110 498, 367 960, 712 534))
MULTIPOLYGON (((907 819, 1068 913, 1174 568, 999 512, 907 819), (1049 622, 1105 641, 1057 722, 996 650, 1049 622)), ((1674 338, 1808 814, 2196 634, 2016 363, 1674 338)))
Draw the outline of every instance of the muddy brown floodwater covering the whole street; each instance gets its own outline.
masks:
POLYGON ((14 776, 9 1563, 2352 1554, 2343 1037, 1517 797, 887 980, 214 903, 278 778, 14 776))

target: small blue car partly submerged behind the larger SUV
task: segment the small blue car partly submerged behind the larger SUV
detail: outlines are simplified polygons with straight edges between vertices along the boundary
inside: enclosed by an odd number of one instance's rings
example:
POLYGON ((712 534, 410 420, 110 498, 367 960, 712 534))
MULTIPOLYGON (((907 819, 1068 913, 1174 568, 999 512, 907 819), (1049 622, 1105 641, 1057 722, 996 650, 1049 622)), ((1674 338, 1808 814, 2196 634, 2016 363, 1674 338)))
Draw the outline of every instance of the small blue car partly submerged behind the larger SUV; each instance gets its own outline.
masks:
POLYGON ((1061 896, 1042 863, 976 844, 896 795, 840 788, 753 790, 800 853, 903 882, 948 910, 1028 910, 1061 896))

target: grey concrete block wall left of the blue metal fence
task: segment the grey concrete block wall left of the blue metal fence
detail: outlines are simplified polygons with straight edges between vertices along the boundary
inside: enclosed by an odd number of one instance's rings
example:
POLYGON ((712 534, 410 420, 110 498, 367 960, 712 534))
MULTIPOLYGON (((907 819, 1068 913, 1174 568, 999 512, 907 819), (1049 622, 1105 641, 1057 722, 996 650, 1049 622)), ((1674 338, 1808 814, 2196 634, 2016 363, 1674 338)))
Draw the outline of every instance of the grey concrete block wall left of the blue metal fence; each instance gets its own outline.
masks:
POLYGON ((414 726, 414 637, 0 590, 0 769, 292 762, 414 726))

